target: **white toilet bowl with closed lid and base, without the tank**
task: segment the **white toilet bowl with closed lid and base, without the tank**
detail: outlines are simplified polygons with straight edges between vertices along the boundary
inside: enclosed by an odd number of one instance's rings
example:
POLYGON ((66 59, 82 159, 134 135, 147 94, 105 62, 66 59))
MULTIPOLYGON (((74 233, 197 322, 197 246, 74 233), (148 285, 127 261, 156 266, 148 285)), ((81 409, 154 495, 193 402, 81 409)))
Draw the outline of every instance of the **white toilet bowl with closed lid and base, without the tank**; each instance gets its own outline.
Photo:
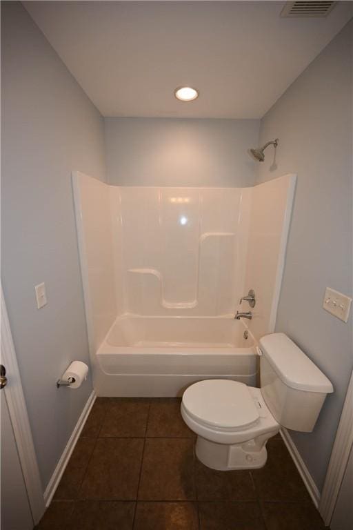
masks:
POLYGON ((183 394, 181 415, 197 434, 197 458, 220 471, 263 467, 265 444, 280 428, 260 389, 229 380, 192 384, 183 394))

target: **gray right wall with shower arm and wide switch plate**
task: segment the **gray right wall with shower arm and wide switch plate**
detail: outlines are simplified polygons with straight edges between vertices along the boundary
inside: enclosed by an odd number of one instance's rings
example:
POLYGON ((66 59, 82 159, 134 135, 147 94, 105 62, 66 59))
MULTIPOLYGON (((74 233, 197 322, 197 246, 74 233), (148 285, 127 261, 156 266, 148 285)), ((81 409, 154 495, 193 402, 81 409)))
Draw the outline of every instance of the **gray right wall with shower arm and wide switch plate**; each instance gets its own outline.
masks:
POLYGON ((259 181, 297 173, 298 184, 276 330, 330 377, 313 433, 292 439, 321 489, 353 368, 348 324, 323 311, 326 286, 352 296, 352 22, 294 81, 261 121, 261 141, 279 137, 259 181))

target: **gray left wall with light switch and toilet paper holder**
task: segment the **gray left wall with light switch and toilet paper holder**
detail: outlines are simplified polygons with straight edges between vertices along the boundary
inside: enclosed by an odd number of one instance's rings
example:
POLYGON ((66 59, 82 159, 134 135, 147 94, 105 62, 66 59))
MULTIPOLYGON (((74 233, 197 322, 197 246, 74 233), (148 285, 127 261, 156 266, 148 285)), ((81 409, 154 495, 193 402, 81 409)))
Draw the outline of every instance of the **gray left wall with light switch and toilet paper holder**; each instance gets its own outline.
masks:
POLYGON ((70 172, 104 178, 103 119, 20 3, 1 3, 1 55, 1 273, 46 487, 92 391, 55 381, 88 362, 70 172))

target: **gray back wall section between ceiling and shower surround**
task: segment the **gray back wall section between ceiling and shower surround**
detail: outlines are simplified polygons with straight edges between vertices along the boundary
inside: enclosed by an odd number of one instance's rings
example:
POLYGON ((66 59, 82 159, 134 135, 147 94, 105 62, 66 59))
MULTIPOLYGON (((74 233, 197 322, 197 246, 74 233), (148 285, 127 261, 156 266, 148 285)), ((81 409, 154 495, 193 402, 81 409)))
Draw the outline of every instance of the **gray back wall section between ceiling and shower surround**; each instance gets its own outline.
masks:
POLYGON ((108 182, 119 186, 254 184, 256 119, 105 118, 108 182))

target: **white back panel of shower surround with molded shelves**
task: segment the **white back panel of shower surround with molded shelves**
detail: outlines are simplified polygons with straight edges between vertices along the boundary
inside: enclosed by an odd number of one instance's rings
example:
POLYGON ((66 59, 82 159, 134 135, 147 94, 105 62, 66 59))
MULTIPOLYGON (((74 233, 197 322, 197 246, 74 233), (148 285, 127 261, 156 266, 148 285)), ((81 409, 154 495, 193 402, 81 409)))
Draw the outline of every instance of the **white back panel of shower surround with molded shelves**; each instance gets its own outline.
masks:
POLYGON ((110 186, 119 313, 234 313, 251 188, 110 186))

